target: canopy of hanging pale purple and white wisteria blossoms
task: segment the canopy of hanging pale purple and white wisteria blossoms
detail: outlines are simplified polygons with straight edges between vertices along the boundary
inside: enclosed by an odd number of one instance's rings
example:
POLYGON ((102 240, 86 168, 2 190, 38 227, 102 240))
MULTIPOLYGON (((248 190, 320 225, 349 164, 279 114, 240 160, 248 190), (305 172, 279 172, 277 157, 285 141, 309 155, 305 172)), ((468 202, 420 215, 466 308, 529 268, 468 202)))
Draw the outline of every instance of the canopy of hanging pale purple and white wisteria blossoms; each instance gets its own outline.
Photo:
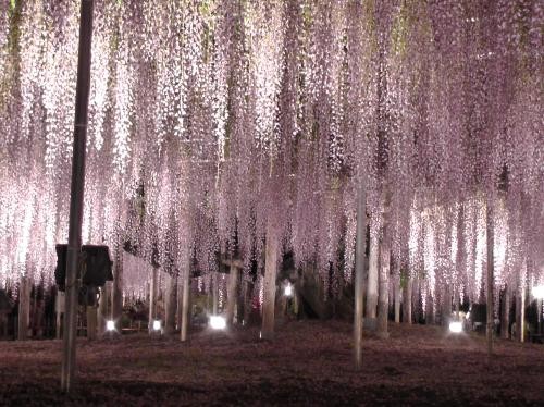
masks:
MULTIPOLYGON (((51 282, 67 238, 78 3, 0 2, 0 287, 51 282)), ((337 288, 364 183, 371 240, 423 301, 479 299, 487 207, 496 287, 544 283, 543 13, 97 0, 83 239, 209 283, 217 252, 247 272, 274 236, 337 288)))

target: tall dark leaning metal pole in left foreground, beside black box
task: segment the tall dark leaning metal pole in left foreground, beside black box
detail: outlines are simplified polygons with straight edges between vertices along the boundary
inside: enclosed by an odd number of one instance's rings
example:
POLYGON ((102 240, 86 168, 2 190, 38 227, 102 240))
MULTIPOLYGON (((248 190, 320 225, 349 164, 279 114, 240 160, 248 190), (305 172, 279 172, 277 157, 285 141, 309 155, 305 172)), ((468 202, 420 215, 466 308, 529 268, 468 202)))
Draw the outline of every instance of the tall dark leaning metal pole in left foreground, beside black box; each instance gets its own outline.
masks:
POLYGON ((62 351, 61 388, 70 392, 75 372, 77 323, 78 262, 82 249, 83 194, 85 185, 85 148, 90 87, 90 45, 92 37, 94 0, 82 0, 79 21, 79 53, 75 96, 74 151, 70 195, 70 227, 66 256, 66 309, 62 351))

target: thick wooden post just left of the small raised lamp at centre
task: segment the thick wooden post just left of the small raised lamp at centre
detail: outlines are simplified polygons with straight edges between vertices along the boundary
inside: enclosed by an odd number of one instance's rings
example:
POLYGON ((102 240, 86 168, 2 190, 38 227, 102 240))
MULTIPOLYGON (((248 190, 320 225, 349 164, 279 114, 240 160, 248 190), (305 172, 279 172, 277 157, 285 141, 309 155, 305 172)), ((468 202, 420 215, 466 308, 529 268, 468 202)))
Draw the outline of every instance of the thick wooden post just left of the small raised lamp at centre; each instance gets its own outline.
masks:
POLYGON ((275 280, 277 274, 277 236, 271 221, 268 222, 262 299, 262 340, 273 340, 274 337, 275 280))

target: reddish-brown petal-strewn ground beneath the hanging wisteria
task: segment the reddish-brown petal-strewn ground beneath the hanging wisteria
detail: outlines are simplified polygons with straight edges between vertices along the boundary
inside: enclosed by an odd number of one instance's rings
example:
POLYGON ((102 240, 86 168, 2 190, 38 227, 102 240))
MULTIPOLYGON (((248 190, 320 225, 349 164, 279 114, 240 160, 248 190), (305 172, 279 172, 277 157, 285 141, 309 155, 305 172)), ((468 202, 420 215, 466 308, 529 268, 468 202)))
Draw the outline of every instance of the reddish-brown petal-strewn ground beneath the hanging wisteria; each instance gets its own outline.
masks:
POLYGON ((544 406, 544 346, 437 326, 391 325, 366 336, 363 368, 351 325, 289 322, 273 342, 258 329, 176 338, 124 335, 77 347, 77 385, 60 391, 60 341, 0 342, 0 405, 436 405, 544 406))

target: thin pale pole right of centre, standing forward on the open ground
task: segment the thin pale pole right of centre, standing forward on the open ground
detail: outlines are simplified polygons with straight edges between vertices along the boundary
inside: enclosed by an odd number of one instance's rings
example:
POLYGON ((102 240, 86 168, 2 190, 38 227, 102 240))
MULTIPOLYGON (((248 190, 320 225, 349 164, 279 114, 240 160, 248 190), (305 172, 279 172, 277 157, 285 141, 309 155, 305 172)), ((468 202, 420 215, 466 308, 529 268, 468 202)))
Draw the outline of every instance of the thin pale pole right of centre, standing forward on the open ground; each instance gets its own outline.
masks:
POLYGON ((361 183, 357 190, 357 229, 355 246, 355 312, 354 312, 354 346, 355 367, 362 365, 362 293, 364 282, 364 251, 367 244, 367 201, 364 185, 361 183))

